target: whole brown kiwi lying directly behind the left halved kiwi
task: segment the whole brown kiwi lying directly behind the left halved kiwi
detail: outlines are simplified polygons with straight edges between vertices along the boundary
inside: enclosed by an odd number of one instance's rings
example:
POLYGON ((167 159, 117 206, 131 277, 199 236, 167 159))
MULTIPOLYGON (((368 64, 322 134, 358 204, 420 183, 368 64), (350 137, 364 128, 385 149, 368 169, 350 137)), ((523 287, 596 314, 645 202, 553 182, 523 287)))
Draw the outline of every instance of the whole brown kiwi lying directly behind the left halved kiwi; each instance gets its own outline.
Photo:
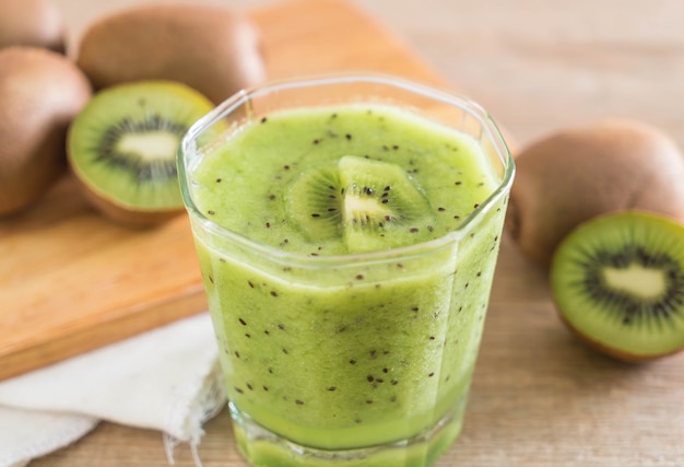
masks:
POLYGON ((261 83, 260 34, 245 16, 197 4, 134 7, 84 33, 76 63, 95 89, 129 81, 178 81, 214 104, 261 83))

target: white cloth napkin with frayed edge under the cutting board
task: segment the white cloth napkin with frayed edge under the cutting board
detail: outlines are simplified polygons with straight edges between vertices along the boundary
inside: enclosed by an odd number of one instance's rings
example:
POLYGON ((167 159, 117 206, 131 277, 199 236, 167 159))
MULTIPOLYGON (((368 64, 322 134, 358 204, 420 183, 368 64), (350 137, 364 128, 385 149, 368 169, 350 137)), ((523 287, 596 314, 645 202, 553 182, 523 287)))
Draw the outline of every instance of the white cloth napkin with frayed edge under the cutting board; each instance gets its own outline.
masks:
MULTIPOLYGON (((225 402, 211 319, 202 313, 0 382, 0 467, 25 465, 99 420, 163 432, 196 454, 225 402)), ((199 459, 197 459, 198 465, 199 459)))

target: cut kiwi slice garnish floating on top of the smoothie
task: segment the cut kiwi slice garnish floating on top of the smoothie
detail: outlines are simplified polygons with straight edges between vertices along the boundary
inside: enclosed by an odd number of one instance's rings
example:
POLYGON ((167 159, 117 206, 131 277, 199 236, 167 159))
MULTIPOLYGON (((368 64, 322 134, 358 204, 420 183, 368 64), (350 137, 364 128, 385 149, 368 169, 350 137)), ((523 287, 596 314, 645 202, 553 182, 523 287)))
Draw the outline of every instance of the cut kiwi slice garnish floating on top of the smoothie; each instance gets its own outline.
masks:
POLYGON ((290 213, 312 241, 342 238, 350 253, 432 238, 429 202, 399 165, 354 155, 312 167, 287 192, 290 213))

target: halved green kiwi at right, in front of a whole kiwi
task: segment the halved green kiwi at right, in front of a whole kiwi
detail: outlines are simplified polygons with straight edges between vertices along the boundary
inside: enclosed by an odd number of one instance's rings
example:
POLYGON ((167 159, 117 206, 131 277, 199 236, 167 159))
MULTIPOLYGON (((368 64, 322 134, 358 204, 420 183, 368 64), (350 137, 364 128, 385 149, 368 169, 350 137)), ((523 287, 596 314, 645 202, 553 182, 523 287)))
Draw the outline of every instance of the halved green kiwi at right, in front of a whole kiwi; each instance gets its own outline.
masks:
POLYGON ((626 361, 684 348, 684 225, 622 211, 564 238, 551 285, 563 320, 593 347, 626 361))

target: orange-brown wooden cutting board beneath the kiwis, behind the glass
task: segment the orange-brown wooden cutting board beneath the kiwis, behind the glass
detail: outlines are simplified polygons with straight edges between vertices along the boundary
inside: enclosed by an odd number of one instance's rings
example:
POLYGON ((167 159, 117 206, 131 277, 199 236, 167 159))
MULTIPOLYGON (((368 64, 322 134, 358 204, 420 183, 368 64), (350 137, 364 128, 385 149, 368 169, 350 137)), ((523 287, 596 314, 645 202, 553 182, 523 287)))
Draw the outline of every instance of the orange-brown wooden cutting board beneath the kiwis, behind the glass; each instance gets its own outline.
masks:
MULTIPOLYGON (((334 0, 251 13, 270 78, 376 70, 438 78, 368 17, 334 0)), ((202 312, 185 214, 133 231, 93 211, 64 177, 37 206, 0 220, 0 380, 202 312)))

